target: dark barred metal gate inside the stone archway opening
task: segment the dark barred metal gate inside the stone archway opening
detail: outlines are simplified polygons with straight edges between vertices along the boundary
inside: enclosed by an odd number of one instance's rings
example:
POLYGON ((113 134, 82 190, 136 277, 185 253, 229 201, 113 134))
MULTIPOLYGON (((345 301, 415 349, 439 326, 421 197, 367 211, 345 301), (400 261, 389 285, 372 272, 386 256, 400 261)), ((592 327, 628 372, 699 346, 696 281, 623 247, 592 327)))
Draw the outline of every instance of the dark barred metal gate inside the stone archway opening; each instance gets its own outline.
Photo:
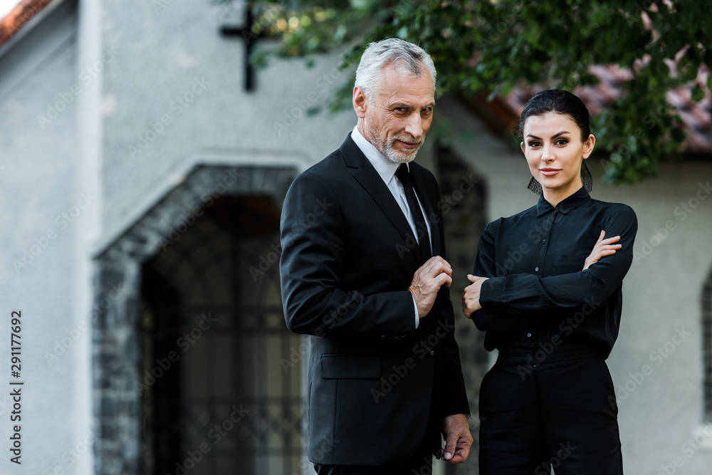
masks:
POLYGON ((142 266, 145 475, 300 474, 306 346, 286 329, 270 197, 183 216, 142 266))

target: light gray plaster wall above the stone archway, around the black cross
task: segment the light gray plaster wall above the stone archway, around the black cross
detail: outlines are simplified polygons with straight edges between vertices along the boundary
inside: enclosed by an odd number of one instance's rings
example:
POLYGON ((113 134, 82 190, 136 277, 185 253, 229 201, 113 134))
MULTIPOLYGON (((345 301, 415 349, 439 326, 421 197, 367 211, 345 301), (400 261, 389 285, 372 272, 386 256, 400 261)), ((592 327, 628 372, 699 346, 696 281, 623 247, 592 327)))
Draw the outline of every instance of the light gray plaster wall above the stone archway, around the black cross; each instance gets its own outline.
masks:
POLYGON ((328 155, 355 115, 308 116, 346 77, 339 55, 273 61, 244 90, 245 46, 219 29, 242 25, 242 9, 209 0, 106 1, 105 47, 117 58, 104 76, 105 236, 113 236, 195 163, 283 160, 304 168, 328 155), (277 125, 279 124, 279 125, 277 125), (281 127, 281 125, 284 126, 281 127))

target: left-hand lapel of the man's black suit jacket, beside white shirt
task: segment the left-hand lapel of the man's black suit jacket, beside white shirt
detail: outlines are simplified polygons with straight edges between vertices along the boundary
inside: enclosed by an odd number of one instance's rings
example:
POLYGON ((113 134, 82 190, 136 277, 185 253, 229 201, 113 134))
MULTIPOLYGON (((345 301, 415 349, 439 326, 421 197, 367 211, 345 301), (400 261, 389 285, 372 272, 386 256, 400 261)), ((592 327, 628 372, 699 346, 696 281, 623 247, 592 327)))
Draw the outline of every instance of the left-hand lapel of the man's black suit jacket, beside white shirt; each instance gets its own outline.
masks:
MULTIPOLYGON (((391 221, 395 229, 397 229, 403 238, 404 247, 409 249, 419 262, 422 262, 419 246, 417 246, 417 244, 415 246, 408 245, 408 243, 415 242, 410 224, 408 224, 407 219, 403 215, 402 210, 390 190, 371 165, 371 162, 368 161, 366 156, 363 155, 363 152, 361 152, 361 149, 352 140, 350 134, 346 137, 340 150, 346 162, 346 166, 353 169, 354 179, 370 194, 383 214, 391 221)), ((399 254, 401 253, 399 252, 399 254)))

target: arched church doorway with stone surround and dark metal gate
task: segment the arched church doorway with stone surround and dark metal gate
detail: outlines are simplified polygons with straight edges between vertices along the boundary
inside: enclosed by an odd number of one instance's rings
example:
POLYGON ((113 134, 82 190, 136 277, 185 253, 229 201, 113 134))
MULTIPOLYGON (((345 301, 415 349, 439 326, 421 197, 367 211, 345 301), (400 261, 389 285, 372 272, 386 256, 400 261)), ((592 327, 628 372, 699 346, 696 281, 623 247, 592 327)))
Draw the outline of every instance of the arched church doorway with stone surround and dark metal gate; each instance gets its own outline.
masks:
POLYGON ((98 305, 119 297, 95 315, 96 473, 299 471, 277 262, 295 174, 198 167, 98 256, 98 305))

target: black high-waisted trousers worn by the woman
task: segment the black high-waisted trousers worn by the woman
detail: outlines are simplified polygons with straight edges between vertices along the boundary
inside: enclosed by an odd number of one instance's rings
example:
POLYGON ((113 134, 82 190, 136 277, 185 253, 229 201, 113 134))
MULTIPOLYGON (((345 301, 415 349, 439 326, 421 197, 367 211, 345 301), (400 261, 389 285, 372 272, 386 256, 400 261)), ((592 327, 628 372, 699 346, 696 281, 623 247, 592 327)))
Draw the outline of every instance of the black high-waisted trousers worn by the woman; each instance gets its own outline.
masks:
POLYGON ((481 475, 549 475, 552 467, 555 475, 623 474, 602 357, 532 364, 524 353, 501 352, 482 380, 479 411, 481 475))

